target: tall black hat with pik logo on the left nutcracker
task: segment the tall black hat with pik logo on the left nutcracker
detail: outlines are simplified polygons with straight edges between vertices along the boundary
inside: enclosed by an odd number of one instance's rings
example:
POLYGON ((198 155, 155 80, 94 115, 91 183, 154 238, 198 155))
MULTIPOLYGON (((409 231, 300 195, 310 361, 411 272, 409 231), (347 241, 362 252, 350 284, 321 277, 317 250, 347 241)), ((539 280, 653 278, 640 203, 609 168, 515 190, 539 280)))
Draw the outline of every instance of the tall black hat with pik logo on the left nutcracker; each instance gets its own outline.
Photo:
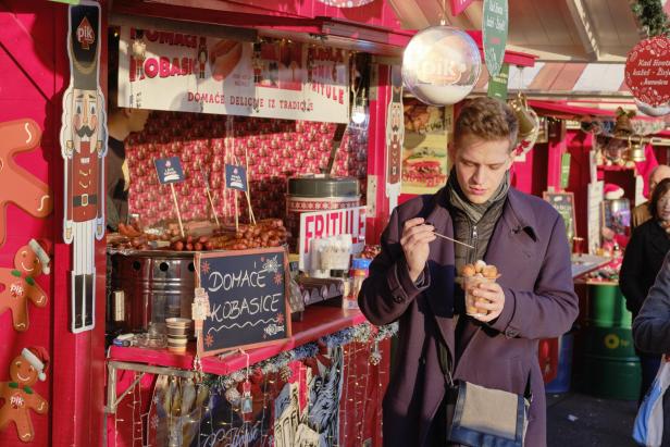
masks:
POLYGON ((67 50, 74 88, 98 88, 98 55, 100 49, 100 7, 70 7, 70 41, 67 50))

